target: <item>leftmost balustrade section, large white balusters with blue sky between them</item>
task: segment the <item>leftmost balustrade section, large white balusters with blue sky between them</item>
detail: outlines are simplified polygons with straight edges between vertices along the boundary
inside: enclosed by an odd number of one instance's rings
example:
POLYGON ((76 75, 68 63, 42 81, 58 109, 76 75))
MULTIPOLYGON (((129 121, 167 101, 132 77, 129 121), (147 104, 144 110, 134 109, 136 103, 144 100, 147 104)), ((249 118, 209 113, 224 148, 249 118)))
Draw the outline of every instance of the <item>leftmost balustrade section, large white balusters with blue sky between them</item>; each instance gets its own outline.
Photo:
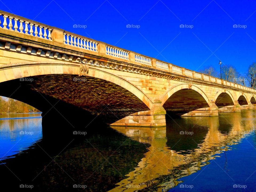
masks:
POLYGON ((50 26, 0 11, 0 28, 52 41, 50 26))

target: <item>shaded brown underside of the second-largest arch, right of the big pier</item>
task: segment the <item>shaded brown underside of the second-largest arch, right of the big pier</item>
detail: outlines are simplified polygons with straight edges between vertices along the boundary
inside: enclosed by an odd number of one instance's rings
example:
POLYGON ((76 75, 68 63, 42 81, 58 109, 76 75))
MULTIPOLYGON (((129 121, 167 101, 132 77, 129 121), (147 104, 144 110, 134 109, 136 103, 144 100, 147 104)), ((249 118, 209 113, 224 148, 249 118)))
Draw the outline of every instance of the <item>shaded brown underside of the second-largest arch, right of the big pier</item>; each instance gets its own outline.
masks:
POLYGON ((191 116, 193 114, 188 113, 195 110, 207 110, 210 106, 197 91, 181 89, 173 93, 163 104, 163 107, 171 114, 191 116))

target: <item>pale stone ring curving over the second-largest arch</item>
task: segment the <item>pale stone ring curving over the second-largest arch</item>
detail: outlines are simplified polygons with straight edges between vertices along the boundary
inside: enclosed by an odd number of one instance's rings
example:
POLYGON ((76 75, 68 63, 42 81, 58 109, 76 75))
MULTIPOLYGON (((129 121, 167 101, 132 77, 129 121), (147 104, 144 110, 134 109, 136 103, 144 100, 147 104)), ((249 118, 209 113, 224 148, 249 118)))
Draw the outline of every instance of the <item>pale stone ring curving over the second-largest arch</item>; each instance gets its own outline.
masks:
POLYGON ((182 90, 182 89, 191 89, 191 90, 196 91, 205 99, 205 101, 210 106, 210 101, 209 101, 208 97, 206 96, 206 94, 201 89, 199 89, 197 86, 190 85, 189 83, 182 83, 182 84, 175 85, 170 90, 166 91, 165 94, 160 98, 160 101, 162 101, 162 105, 165 104, 165 102, 167 101, 167 99, 169 99, 171 97, 171 95, 173 95, 175 92, 182 90))

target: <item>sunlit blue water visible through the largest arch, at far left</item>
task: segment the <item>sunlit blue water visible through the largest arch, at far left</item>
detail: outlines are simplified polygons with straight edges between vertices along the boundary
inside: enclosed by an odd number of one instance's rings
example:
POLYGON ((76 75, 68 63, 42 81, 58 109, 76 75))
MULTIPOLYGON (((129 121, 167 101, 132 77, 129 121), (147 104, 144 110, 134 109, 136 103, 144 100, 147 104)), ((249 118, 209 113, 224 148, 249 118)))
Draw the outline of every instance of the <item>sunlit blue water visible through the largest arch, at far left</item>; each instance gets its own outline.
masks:
POLYGON ((0 162, 23 153, 41 138, 41 113, 0 115, 0 162))

